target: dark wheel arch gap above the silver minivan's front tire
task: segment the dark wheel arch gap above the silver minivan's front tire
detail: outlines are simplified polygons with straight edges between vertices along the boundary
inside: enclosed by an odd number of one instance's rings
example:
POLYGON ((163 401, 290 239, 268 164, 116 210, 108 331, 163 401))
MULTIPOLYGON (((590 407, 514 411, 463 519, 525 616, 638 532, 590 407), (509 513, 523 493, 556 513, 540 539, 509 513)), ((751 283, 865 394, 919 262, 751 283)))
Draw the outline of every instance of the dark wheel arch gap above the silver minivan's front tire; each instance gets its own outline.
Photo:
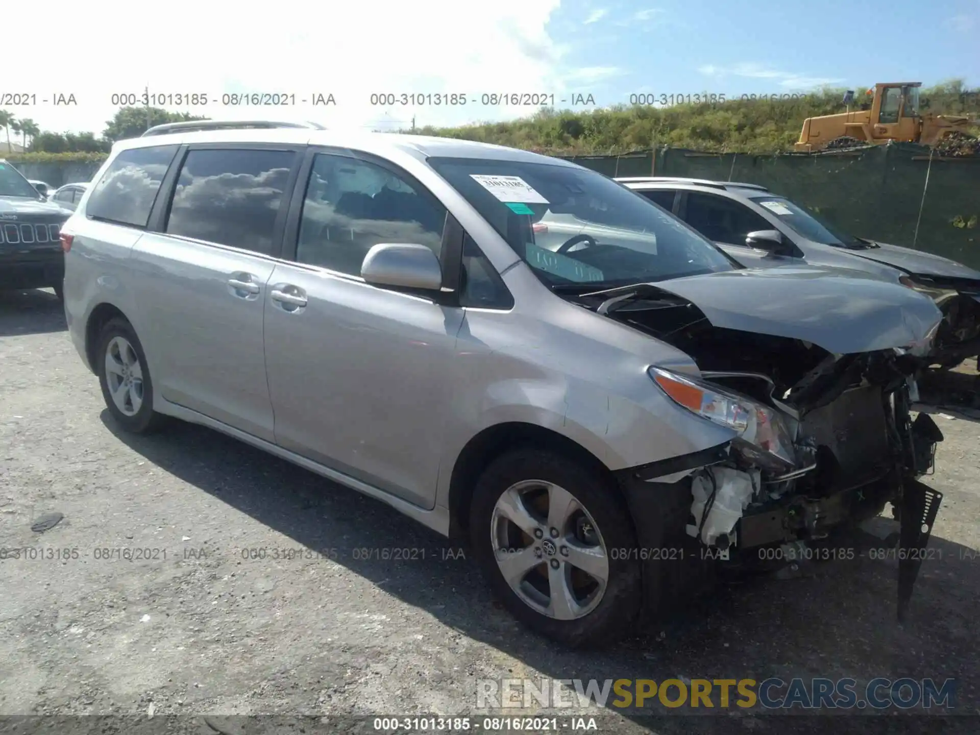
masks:
MULTIPOLYGON (((473 486, 493 460, 512 449, 537 448, 564 455, 589 466, 610 480, 622 497, 613 472, 602 460, 573 439, 550 428, 524 421, 506 421, 484 428, 466 442, 453 466, 449 483, 450 535, 466 533, 473 486)), ((625 498, 623 498, 625 501, 625 498)))

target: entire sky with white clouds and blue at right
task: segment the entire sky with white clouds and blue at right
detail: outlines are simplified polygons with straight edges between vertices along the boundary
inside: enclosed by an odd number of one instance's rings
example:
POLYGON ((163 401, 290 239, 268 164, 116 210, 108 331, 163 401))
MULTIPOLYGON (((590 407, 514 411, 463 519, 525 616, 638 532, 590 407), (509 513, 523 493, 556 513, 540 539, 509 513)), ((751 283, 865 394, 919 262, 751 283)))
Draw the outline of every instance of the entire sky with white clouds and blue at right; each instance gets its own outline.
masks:
POLYGON ((56 40, 43 51, 28 27, 4 33, 0 109, 59 132, 101 134, 113 95, 147 87, 164 96, 157 107, 213 119, 395 130, 514 119, 542 99, 587 110, 878 81, 980 86, 980 0, 49 0, 44 10, 44 37, 56 40), (230 104, 243 92, 290 104, 230 104), (176 98, 190 94, 208 104, 176 98), (504 94, 531 105, 490 97, 504 94))

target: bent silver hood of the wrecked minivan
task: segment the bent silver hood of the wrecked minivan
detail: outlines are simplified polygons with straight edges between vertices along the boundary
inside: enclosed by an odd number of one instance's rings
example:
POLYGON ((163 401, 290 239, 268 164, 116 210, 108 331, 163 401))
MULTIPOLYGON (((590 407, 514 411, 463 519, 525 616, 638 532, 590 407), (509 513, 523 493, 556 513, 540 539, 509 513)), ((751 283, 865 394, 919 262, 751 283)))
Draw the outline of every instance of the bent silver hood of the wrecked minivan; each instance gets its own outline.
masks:
POLYGON ((712 325, 802 339, 835 354, 924 346, 942 319, 926 296, 843 270, 727 270, 652 284, 712 325))

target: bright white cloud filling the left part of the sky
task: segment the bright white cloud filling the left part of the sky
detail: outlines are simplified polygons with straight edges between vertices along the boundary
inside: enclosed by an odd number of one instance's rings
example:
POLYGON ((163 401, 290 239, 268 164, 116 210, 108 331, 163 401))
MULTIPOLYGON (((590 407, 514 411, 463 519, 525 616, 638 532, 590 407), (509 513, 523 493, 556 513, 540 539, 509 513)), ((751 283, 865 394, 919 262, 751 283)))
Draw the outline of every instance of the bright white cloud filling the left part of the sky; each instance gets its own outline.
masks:
MULTIPOLYGON (((163 6, 92 0, 78 13, 76 3, 51 0, 45 33, 69 39, 69 46, 81 43, 84 56, 77 64, 10 64, 0 91, 36 94, 36 106, 7 109, 61 131, 101 133, 118 108, 112 95, 141 94, 147 84, 152 93, 207 94, 211 105, 185 111, 223 119, 384 128, 407 124, 413 115, 419 125, 499 120, 529 110, 482 107, 481 93, 558 96, 576 74, 595 73, 564 66, 565 49, 548 32, 560 2, 490 4, 480 8, 473 26, 472 8, 453 0, 279 0, 259 15, 200 0, 163 6), (331 93, 336 106, 222 107, 222 93, 231 91, 292 93, 298 103, 331 93), (389 92, 455 92, 469 101, 465 107, 415 109, 370 104, 372 93, 389 92), (73 94, 77 106, 40 104, 56 93, 73 94), (388 123, 378 122, 383 120, 388 123)), ((36 34, 7 33, 4 56, 36 59, 36 44, 36 34)))

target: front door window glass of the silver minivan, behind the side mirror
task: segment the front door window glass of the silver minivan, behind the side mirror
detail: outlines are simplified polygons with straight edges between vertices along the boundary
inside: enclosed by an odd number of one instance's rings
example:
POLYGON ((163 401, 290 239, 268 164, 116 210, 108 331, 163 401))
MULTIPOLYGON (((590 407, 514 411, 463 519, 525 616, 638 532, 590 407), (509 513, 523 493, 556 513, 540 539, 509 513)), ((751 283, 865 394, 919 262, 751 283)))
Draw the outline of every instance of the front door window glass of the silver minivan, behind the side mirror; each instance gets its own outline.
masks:
POLYGON ((379 243, 442 250, 446 209, 419 184, 368 161, 321 153, 303 202, 296 260, 361 275, 379 243))

